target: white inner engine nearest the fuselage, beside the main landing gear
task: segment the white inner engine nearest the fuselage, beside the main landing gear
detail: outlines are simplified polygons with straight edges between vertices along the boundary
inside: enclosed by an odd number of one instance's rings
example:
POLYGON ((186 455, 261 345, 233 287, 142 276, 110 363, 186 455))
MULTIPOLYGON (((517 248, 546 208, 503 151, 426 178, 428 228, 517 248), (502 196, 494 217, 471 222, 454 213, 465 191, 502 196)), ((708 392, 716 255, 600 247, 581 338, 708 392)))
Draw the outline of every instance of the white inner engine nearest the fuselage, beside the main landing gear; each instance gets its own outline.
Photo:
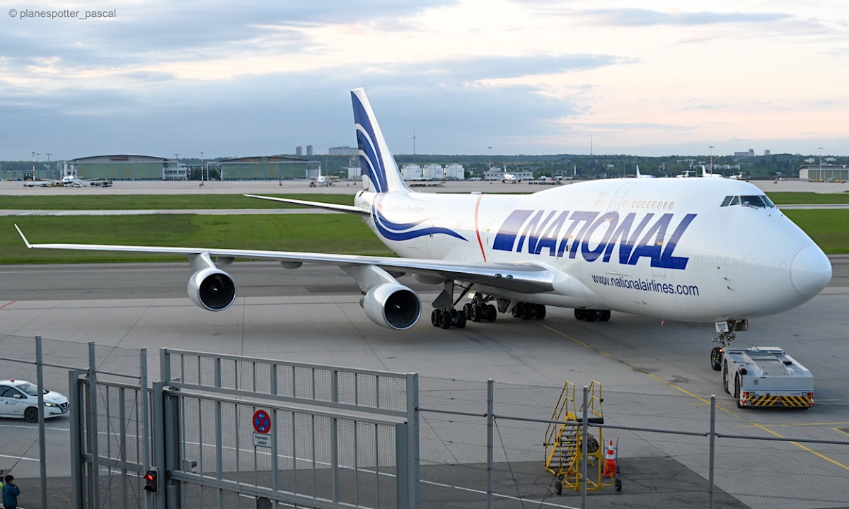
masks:
POLYGON ((422 303, 410 288, 386 282, 368 290, 363 297, 363 310, 372 322, 403 331, 419 322, 422 303))

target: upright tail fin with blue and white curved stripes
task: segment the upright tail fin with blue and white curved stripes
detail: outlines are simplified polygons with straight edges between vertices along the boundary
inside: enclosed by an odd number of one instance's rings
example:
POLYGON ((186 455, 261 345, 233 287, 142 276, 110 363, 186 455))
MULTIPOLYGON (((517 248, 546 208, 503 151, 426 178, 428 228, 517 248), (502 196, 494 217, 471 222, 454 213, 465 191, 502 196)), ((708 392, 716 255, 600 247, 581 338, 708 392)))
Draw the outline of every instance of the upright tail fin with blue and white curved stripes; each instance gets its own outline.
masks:
POLYGON ((351 90, 363 182, 375 193, 409 191, 363 88, 351 90))

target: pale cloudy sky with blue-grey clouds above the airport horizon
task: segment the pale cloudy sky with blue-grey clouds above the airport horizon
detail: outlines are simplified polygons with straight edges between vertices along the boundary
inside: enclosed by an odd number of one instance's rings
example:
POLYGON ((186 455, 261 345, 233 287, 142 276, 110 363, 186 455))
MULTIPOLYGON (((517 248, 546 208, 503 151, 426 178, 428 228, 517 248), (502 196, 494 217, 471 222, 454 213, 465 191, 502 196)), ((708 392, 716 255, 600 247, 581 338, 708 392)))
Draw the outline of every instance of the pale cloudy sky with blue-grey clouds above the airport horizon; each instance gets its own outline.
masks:
POLYGON ((324 154, 356 87, 396 154, 849 154, 845 0, 0 5, 0 160, 324 154))

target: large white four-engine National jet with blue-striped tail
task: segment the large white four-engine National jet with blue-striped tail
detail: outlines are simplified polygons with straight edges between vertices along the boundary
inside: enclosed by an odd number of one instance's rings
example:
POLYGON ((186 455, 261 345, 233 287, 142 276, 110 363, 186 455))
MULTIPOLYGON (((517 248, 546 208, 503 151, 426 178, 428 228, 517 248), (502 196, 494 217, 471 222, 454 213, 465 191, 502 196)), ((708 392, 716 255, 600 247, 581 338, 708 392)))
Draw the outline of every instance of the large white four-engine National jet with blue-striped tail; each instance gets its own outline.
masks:
POLYGON ((430 312, 430 322, 442 328, 492 322, 499 311, 542 319, 546 306, 558 306, 574 308, 576 319, 587 322, 606 322, 611 310, 714 322, 723 344, 750 317, 801 305, 831 278, 829 259, 817 244, 747 182, 609 179, 525 195, 415 193, 404 183, 363 89, 352 91, 351 99, 363 168, 354 204, 255 198, 359 215, 400 258, 33 244, 19 233, 28 248, 186 255, 194 270, 189 298, 216 311, 236 296, 233 278, 216 263, 239 258, 278 260, 285 268, 340 266, 359 284, 366 315, 396 330, 413 327, 422 313, 419 296, 396 279, 405 273, 442 285, 430 312))

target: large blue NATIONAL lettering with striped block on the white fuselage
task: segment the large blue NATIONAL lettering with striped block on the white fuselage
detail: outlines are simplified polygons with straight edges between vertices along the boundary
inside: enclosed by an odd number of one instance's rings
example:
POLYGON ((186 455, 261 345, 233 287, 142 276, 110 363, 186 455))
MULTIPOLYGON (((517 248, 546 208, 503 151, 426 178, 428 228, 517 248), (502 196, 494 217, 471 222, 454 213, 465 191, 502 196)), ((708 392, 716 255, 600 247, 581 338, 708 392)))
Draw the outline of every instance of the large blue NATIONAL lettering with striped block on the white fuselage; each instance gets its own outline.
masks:
POLYGON ((584 260, 601 258, 603 263, 608 263, 618 244, 622 265, 637 265, 645 257, 653 267, 683 270, 689 258, 672 253, 695 216, 684 215, 664 242, 672 224, 672 214, 668 213, 655 219, 655 213, 649 212, 637 221, 636 212, 622 218, 616 211, 601 214, 585 210, 514 210, 498 230, 492 249, 557 258, 567 255, 568 249, 569 258, 574 259, 580 252, 584 260), (604 236, 594 241, 597 245, 591 245, 593 232, 605 223, 608 224, 604 236))

